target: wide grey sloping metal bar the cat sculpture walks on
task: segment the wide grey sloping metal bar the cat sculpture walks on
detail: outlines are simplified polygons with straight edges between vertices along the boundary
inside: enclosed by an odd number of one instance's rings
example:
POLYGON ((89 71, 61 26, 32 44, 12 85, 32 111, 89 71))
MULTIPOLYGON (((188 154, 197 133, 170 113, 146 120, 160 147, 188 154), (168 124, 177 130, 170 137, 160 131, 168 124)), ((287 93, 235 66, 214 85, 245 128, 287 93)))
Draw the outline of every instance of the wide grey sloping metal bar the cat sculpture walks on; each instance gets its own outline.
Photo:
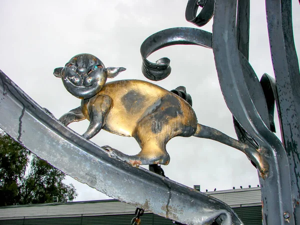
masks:
POLYGON ((211 224, 215 219, 222 220, 224 225, 242 224, 220 200, 142 167, 110 158, 105 150, 58 122, 2 71, 0 94, 0 127, 80 182, 184 224, 211 224))

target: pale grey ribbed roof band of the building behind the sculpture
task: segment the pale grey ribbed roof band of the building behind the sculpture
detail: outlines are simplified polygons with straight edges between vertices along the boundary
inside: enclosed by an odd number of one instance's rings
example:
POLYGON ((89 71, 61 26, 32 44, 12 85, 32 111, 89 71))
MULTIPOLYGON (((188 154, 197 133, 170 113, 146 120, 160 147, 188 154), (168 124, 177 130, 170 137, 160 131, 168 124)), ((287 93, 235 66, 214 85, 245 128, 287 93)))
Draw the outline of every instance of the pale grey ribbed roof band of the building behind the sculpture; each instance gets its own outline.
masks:
MULTIPOLYGON (((259 187, 218 190, 205 193, 224 201, 233 208, 261 205, 261 193, 259 187)), ((135 208, 136 207, 132 205, 114 199, 11 205, 0 207, 0 220, 133 214, 135 208)))

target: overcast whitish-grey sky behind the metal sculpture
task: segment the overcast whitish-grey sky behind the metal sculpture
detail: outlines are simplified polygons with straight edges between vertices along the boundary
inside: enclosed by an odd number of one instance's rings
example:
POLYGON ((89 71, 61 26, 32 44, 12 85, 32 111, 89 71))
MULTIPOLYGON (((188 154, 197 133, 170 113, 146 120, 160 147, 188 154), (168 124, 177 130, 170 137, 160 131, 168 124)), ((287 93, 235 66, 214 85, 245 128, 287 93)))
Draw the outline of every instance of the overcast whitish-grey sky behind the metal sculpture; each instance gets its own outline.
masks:
MULTIPOLYGON (((185 21, 187 0, 1 0, 0 69, 42 107, 56 118, 79 106, 80 100, 68 93, 53 69, 78 53, 91 53, 106 67, 123 66, 116 79, 143 79, 139 47, 149 35, 170 27, 190 26, 185 21)), ((293 26, 296 49, 300 49, 300 7, 293 3, 293 26)), ((273 75, 262 0, 250 4, 249 61, 257 76, 273 75)), ((212 21, 201 29, 211 32, 212 21)), ((211 49, 176 45, 149 56, 155 61, 169 57, 172 72, 155 82, 173 89, 186 87, 192 96, 198 122, 212 126, 236 138, 232 116, 227 109, 217 80, 211 49)), ((82 134, 88 121, 69 126, 82 134)), ((278 130, 278 128, 277 128, 278 130)), ((280 136, 280 134, 278 135, 280 136)), ((110 145, 127 154, 139 152, 131 137, 101 130, 91 139, 110 145)), ((232 186, 256 186, 256 169, 238 150, 197 137, 175 137, 167 144, 170 163, 163 166, 170 179, 192 187, 230 189, 232 186)), ((106 195, 68 177, 66 183, 77 189, 76 200, 105 199, 106 195)), ((121 188, 121 187, 120 187, 121 188)))

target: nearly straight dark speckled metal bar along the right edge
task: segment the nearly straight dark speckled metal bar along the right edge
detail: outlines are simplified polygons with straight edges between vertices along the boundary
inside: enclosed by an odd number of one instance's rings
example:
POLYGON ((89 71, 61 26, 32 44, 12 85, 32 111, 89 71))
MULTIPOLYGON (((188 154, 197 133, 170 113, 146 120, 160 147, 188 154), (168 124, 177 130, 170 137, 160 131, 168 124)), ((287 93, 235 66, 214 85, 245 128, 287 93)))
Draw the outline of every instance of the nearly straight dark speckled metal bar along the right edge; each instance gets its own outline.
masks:
MULTIPOLYGON (((295 5, 298 6, 298 5, 295 5)), ((291 18, 291 0, 265 0, 271 59, 276 78, 282 141, 288 155, 294 209, 300 220, 300 72, 291 18)), ((294 216, 294 217, 293 217, 294 216)))

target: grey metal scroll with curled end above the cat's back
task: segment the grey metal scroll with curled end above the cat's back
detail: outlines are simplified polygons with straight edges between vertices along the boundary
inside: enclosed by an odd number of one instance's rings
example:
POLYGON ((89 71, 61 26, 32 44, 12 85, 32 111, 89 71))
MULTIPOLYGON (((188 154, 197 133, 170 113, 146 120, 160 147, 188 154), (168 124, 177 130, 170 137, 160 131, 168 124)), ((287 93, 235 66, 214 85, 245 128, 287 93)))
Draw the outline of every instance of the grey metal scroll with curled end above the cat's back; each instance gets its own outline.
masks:
POLYGON ((194 44, 211 48, 211 33, 190 27, 175 27, 158 31, 147 37, 140 46, 142 73, 150 80, 161 80, 171 72, 170 60, 160 58, 156 63, 146 58, 154 51, 175 44, 194 44))

